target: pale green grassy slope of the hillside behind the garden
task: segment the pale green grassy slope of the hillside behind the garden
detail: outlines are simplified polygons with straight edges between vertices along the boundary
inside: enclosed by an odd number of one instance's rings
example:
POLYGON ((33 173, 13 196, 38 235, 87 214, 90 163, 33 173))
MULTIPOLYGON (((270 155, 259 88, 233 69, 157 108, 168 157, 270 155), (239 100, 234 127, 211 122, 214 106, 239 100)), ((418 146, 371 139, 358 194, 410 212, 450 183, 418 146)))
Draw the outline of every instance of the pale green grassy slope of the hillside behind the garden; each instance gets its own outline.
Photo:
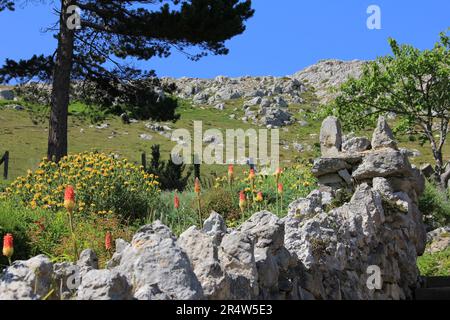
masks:
MULTIPOLYGON (((306 101, 303 105, 292 105, 289 107, 290 111, 297 119, 305 119, 309 125, 301 127, 299 124, 289 126, 288 129, 280 129, 280 137, 282 141, 287 141, 289 150, 283 149, 280 146, 281 162, 283 165, 288 165, 289 162, 295 161, 295 158, 313 158, 316 157, 317 150, 298 153, 292 148, 292 142, 298 142, 304 145, 314 146, 318 143, 318 133, 320 131, 320 122, 311 119, 311 115, 317 108, 316 101, 313 94, 306 94, 304 96, 306 101), (299 113, 298 111, 303 111, 299 113)), ((2 105, 10 102, 0 101, 0 109, 2 105)), ((226 103, 226 108, 223 111, 215 110, 209 107, 192 107, 190 103, 183 102, 178 110, 181 114, 181 119, 174 123, 168 123, 173 128, 193 129, 193 121, 203 121, 203 130, 207 129, 221 129, 225 133, 225 129, 249 129, 257 127, 252 124, 243 123, 239 120, 243 116, 242 100, 229 101, 226 103), (236 119, 230 119, 230 115, 235 114, 236 119)), ((74 104, 70 110, 73 113, 80 112, 82 106, 74 104)), ((175 145, 167 138, 162 137, 155 132, 145 128, 145 122, 140 121, 136 124, 124 125, 117 117, 109 117, 104 122, 110 124, 107 129, 90 128, 90 123, 80 120, 78 117, 69 117, 69 152, 76 153, 81 151, 97 150, 107 153, 117 153, 124 156, 131 161, 140 161, 142 152, 150 153, 150 147, 154 144, 161 145, 162 157, 167 159, 170 150, 175 145), (84 132, 81 133, 80 130, 84 132), (115 133, 113 138, 112 133, 115 133), (153 136, 151 141, 145 141, 139 138, 142 133, 147 133, 153 136)), ((10 151, 10 180, 19 175, 23 175, 27 169, 36 168, 40 159, 46 154, 47 148, 47 134, 48 126, 46 121, 42 123, 34 123, 30 114, 27 111, 14 111, 10 109, 0 110, 0 153, 6 150, 10 151)), ((370 137, 372 128, 358 132, 360 135, 370 137)), ((421 152, 421 157, 411 159, 415 164, 425 162, 433 163, 431 149, 428 145, 419 146, 417 142, 410 142, 407 137, 398 137, 401 146, 418 149, 421 152)), ((444 150, 445 158, 450 158, 448 144, 444 150)), ((204 174, 213 174, 215 172, 223 172, 225 169, 222 166, 202 166, 204 174)), ((5 183, 4 181, 2 182, 5 183)))

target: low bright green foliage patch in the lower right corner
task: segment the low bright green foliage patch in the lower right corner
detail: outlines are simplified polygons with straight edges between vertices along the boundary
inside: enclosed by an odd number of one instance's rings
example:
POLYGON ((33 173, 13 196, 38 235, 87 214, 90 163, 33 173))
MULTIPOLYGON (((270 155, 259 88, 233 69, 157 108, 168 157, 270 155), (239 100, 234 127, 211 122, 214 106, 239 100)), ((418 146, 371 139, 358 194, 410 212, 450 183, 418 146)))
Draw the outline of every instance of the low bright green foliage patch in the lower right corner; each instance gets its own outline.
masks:
POLYGON ((423 276, 450 276, 450 248, 436 253, 425 253, 417 259, 423 276))

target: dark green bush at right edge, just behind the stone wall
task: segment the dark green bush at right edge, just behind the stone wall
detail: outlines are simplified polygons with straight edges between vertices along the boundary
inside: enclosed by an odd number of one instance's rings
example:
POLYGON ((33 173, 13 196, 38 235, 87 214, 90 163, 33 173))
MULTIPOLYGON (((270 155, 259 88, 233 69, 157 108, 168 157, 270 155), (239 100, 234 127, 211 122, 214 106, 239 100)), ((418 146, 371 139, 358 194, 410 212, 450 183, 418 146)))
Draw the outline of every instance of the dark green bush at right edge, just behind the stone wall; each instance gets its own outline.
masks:
POLYGON ((447 197, 439 187, 426 183, 425 192, 419 199, 419 209, 425 217, 425 223, 433 229, 450 223, 450 203, 447 197))

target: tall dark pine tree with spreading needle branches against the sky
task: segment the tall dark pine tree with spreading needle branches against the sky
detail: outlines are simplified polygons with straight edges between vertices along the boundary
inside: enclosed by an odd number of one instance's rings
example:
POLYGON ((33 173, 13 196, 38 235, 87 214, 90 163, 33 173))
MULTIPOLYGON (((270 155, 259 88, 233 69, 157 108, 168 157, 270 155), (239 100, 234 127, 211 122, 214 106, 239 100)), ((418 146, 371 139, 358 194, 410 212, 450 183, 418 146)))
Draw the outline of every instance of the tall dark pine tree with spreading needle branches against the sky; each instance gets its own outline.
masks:
MULTIPOLYGON (((0 11, 14 10, 14 2, 0 0, 0 11)), ((162 87, 155 72, 135 68, 125 58, 149 60, 168 57, 173 51, 192 60, 208 54, 225 55, 225 42, 244 32, 244 22, 254 14, 251 0, 58 2, 59 23, 53 30, 58 39, 55 53, 7 60, 0 69, 0 82, 16 79, 53 84, 50 128, 58 130, 50 130, 49 149, 50 140, 56 141, 67 132, 67 119, 63 118, 67 118, 69 90, 75 91, 80 100, 105 108, 120 110, 126 105, 137 116, 175 118, 176 103, 153 90, 162 87), (75 21, 74 12, 69 10, 72 5, 81 10, 79 29, 67 24, 75 21)), ((53 145, 67 149, 64 139, 53 145)), ((66 151, 49 151, 49 157, 55 153, 59 159, 66 151)))

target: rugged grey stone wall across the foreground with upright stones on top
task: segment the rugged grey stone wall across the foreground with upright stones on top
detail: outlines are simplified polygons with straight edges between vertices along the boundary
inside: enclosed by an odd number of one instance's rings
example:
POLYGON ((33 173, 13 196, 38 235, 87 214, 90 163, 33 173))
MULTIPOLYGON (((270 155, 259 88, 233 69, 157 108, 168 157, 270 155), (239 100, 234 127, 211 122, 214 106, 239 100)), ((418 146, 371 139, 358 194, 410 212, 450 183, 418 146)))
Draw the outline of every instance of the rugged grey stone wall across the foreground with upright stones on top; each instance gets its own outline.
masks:
POLYGON ((43 255, 15 261, 0 279, 0 299, 412 298, 426 242, 417 206, 423 176, 382 118, 369 143, 343 140, 335 118, 320 136, 324 158, 313 172, 321 187, 291 203, 286 217, 262 211, 230 229, 212 213, 178 239, 155 222, 131 243, 118 239, 101 270, 92 250, 76 264, 43 255), (369 279, 376 269, 378 285, 369 279))

